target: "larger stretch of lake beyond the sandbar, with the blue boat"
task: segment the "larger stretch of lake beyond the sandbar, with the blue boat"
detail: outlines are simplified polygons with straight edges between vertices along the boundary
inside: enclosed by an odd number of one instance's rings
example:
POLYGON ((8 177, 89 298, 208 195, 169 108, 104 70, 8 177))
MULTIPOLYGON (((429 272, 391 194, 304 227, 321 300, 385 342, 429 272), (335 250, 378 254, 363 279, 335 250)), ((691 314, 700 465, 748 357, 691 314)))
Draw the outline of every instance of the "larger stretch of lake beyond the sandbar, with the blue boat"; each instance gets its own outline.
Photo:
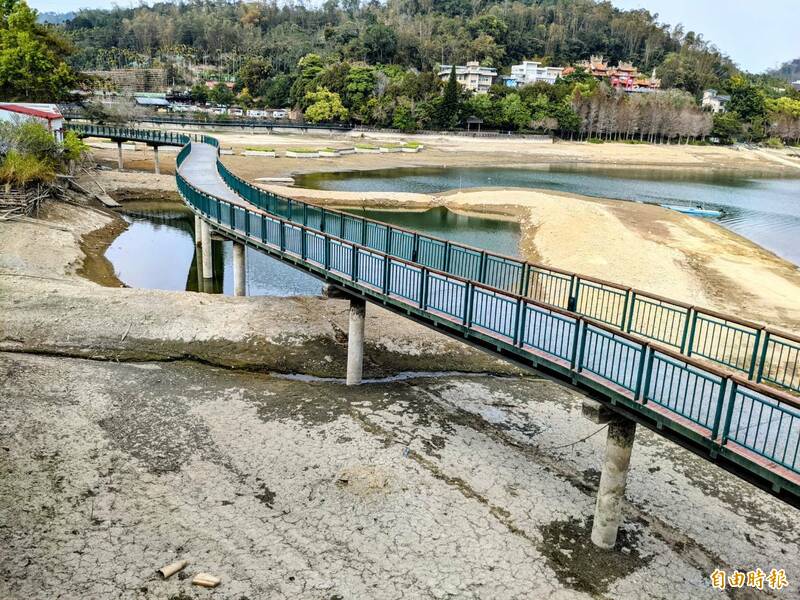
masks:
POLYGON ((800 264, 800 178, 764 179, 678 169, 607 175, 564 168, 408 168, 317 173, 298 176, 295 181, 298 187, 325 190, 428 194, 475 187, 543 188, 650 204, 700 205, 722 211, 714 221, 800 264))

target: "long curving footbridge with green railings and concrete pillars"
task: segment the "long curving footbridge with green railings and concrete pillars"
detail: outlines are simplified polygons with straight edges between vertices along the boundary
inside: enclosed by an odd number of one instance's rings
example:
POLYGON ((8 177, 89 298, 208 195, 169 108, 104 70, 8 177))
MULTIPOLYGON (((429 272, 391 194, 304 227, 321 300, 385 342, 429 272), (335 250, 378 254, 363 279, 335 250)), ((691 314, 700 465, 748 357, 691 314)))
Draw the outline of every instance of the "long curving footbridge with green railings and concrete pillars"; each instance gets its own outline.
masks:
POLYGON ((250 246, 350 298, 348 384, 361 380, 371 302, 582 391, 609 423, 592 540, 613 547, 636 424, 800 506, 800 337, 554 267, 270 193, 232 173, 209 136, 70 125, 82 136, 176 145, 203 276, 211 235, 250 246))

